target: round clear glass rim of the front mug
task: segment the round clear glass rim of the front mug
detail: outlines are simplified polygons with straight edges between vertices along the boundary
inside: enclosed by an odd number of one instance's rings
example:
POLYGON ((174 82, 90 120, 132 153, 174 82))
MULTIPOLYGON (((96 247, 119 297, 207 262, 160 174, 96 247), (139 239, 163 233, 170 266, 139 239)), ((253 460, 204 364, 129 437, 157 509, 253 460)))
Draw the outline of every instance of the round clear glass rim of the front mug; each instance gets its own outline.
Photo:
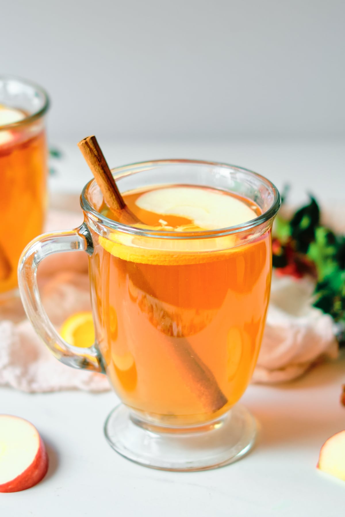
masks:
POLYGON ((260 214, 260 216, 251 219, 250 221, 246 221, 245 223, 237 224, 235 226, 227 226, 220 229, 215 230, 198 230, 192 232, 167 232, 164 230, 150 230, 150 229, 140 229, 135 226, 131 226, 129 224, 119 223, 114 221, 113 219, 109 219, 106 216, 103 216, 98 212, 92 205, 89 203, 86 197, 86 191, 91 185, 96 183, 95 178, 88 181, 88 183, 84 186, 82 193, 80 195, 80 205, 84 212, 88 215, 92 216, 92 219, 96 220, 98 223, 106 226, 112 230, 116 230, 123 233, 130 233, 138 236, 144 237, 153 237, 160 239, 201 239, 201 238, 212 238, 212 237, 222 237, 226 235, 231 235, 234 233, 244 232, 246 230, 251 230, 256 226, 260 226, 261 224, 266 223, 267 221, 273 219, 281 204, 280 194, 277 187, 270 181, 265 178, 261 174, 253 172, 249 169, 245 169, 244 167, 240 167, 237 165, 231 165, 229 163, 223 162, 214 162, 214 161, 205 161, 205 160, 191 160, 191 159, 164 159, 164 160, 151 160, 151 161, 143 161, 143 162, 135 162, 130 163, 128 165, 122 165, 111 169, 111 172, 115 179, 121 179, 123 177, 129 176, 131 174, 136 174, 138 172, 144 172, 145 170, 150 170, 153 166, 164 166, 164 165, 172 165, 172 164, 199 164, 199 165, 213 165, 220 166, 227 169, 231 169, 236 172, 242 172, 249 176, 255 177, 259 179, 274 195, 273 202, 271 206, 260 214), (141 168, 140 171, 136 171, 135 169, 141 168))

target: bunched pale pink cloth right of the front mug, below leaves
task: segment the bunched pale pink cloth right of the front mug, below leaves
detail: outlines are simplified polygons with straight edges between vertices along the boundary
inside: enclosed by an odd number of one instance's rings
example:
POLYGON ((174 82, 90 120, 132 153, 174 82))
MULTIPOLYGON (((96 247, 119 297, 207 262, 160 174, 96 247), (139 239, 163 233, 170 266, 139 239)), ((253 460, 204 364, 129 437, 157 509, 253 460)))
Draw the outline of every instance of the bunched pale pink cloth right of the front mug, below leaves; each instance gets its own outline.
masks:
POLYGON ((334 321, 312 306, 314 283, 273 275, 261 351, 252 382, 290 381, 321 358, 336 358, 334 321))

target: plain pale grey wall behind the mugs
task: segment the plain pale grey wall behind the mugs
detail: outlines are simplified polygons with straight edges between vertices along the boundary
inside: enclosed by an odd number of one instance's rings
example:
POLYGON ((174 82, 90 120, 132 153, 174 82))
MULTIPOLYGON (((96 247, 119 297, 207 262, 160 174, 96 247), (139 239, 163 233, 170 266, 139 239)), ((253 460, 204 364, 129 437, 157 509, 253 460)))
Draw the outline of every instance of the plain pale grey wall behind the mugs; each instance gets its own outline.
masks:
POLYGON ((2 0, 0 26, 51 138, 345 134, 344 0, 2 0))

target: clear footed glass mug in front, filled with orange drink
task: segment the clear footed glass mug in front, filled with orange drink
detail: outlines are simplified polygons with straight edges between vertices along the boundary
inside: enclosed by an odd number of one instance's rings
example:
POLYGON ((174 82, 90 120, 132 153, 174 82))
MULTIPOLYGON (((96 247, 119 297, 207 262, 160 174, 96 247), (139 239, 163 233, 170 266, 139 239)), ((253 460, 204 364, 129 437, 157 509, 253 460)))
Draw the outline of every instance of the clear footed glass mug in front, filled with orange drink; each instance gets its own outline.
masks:
MULTIPOLYGON (((233 192, 262 214, 204 232, 162 232, 102 215, 95 182, 81 195, 84 223, 35 239, 23 252, 19 286, 29 320, 54 356, 105 373, 122 404, 105 433, 119 453, 168 470, 235 461, 256 425, 236 404, 258 357, 272 272, 275 186, 234 166, 163 160, 113 170, 121 192, 196 185, 233 192), (96 342, 77 348, 59 336, 41 305, 36 271, 59 252, 88 254, 96 342)), ((104 206, 104 205, 103 205, 104 206)))

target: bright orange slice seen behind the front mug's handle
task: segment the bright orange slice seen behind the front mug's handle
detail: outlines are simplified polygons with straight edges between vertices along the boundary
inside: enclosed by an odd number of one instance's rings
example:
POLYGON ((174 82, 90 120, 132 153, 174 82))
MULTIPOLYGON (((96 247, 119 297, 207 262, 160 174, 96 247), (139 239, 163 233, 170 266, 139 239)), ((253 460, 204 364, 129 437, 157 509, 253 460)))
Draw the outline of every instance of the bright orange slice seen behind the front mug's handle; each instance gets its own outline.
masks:
POLYGON ((89 311, 72 314, 62 325, 61 337, 70 345, 88 348, 95 342, 92 313, 89 311))

